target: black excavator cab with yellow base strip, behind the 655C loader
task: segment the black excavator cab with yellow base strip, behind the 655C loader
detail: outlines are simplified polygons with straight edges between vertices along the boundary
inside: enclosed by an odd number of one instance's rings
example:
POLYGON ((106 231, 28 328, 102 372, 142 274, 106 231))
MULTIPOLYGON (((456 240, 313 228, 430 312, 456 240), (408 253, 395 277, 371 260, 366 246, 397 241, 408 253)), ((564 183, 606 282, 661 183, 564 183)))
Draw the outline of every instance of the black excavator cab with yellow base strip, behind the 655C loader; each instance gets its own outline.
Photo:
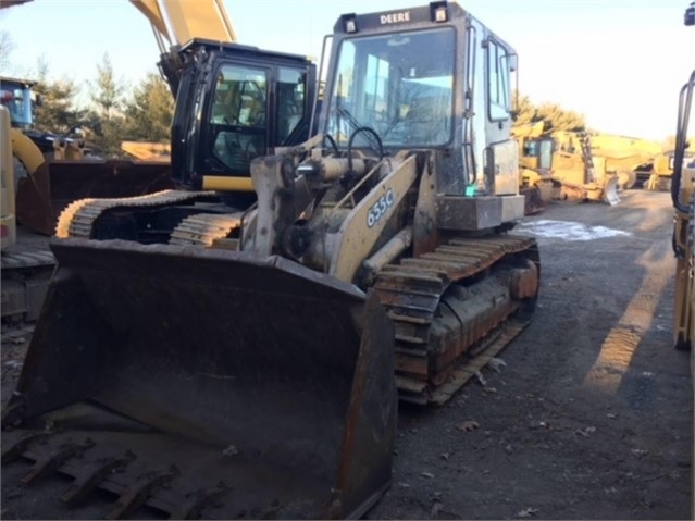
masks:
POLYGON ((179 51, 183 74, 172 125, 172 176, 188 189, 255 199, 250 162, 309 137, 315 65, 306 57, 194 40, 179 51))

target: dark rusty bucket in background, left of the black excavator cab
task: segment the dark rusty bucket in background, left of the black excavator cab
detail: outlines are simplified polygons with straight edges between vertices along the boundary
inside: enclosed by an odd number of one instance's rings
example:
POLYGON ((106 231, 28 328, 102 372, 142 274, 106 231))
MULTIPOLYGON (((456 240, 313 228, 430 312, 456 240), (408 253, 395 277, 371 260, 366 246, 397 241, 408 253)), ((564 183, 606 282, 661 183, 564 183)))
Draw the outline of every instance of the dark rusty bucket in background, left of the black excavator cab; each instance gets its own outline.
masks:
POLYGON ((173 188, 171 165, 156 161, 47 161, 17 189, 17 220, 53 235, 58 216, 77 199, 133 197, 173 188))

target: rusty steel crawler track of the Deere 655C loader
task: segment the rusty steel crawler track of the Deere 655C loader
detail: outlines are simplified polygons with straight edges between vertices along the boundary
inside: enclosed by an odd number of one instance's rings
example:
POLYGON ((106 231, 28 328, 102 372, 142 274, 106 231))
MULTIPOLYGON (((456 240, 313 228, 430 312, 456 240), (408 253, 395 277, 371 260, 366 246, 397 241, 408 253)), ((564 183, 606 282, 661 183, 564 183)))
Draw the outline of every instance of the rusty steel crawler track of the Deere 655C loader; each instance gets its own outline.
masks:
POLYGON ((396 332, 396 383, 402 400, 442 405, 528 324, 533 297, 507 299, 488 274, 510 260, 539 268, 535 239, 451 239, 435 251, 384 268, 375 283, 396 332), (470 291, 464 288, 470 286, 470 291), (462 297, 457 291, 469 291, 462 297), (451 298, 447 298, 451 296, 451 298), (485 302, 500 300, 488 306, 485 302), (470 315, 451 301, 477 309, 470 315), (454 315, 459 324, 443 322, 454 315))

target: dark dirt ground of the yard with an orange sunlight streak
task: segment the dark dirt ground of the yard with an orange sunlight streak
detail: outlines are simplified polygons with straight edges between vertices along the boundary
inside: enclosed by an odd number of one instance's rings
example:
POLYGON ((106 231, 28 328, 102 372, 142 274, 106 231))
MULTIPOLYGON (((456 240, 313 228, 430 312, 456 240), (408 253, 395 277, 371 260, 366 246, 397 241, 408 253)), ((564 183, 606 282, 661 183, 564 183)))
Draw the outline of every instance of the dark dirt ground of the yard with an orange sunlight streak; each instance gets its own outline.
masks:
MULTIPOLYGON (((643 190, 529 218, 520 232, 542 256, 533 322, 445 407, 401 406, 393 485, 367 518, 692 519, 671 227, 669 195, 643 190)), ((2 333, 3 402, 29 337, 2 333)), ((10 474, 1 517, 26 519, 10 474)))

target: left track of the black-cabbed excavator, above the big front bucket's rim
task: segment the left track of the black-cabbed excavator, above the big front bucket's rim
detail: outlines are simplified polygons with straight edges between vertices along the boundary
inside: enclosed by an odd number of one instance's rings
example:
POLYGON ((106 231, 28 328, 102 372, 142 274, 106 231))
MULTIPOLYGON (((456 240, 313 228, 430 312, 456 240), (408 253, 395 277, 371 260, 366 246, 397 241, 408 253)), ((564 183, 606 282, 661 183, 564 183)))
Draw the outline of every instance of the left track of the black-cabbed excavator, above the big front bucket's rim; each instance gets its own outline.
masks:
POLYGON ((214 191, 162 190, 137 197, 80 199, 72 202, 61 212, 55 226, 55 235, 59 238, 91 238, 97 219, 107 211, 162 208, 171 204, 204 201, 214 197, 214 191))

